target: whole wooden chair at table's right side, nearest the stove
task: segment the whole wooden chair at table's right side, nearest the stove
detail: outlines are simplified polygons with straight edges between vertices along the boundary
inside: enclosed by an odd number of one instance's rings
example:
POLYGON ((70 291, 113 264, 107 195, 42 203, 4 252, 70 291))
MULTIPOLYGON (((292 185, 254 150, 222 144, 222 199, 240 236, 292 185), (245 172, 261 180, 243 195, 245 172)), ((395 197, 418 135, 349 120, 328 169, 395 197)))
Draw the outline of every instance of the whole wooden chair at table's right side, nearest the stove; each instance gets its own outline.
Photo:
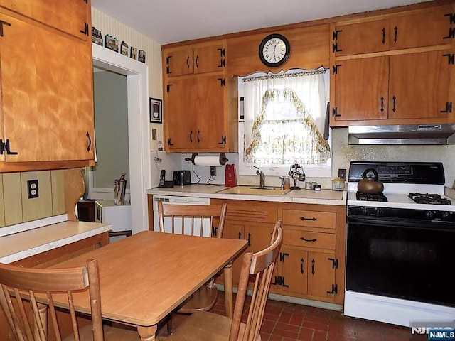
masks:
POLYGON ((283 232, 281 221, 277 221, 272 233, 270 246, 256 253, 243 256, 242 270, 235 298, 232 320, 223 315, 198 312, 189 316, 176 328, 173 335, 159 337, 159 341, 260 341, 259 330, 264 318, 264 310, 269 294, 274 264, 282 246, 283 232), (250 274, 254 275, 247 321, 242 323, 242 313, 250 274))

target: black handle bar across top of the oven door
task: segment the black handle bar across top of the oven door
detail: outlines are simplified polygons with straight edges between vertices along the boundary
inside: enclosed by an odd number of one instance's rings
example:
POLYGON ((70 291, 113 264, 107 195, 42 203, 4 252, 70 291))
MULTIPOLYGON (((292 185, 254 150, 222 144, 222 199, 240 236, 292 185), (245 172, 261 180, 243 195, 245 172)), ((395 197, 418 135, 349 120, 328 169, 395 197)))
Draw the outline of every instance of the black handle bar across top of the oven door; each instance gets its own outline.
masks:
POLYGON ((455 232, 455 224, 453 222, 435 222, 432 220, 409 220, 409 219, 394 219, 387 217, 358 217, 348 216, 347 223, 355 225, 383 225, 383 226, 397 226, 397 228, 404 229, 426 229, 434 231, 452 230, 455 232))

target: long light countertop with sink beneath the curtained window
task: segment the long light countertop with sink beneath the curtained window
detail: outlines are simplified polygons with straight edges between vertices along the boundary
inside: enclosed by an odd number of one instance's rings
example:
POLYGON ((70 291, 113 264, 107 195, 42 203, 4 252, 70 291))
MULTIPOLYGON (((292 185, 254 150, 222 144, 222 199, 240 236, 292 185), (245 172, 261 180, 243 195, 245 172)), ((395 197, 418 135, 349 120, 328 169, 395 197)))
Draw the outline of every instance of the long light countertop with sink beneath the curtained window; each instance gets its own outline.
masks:
POLYGON ((181 197, 210 197, 213 199, 255 200, 269 202, 294 202, 320 205, 346 205, 346 190, 291 190, 285 195, 246 195, 220 193, 228 187, 224 185, 186 185, 173 188, 151 188, 146 190, 151 195, 176 195, 181 197))

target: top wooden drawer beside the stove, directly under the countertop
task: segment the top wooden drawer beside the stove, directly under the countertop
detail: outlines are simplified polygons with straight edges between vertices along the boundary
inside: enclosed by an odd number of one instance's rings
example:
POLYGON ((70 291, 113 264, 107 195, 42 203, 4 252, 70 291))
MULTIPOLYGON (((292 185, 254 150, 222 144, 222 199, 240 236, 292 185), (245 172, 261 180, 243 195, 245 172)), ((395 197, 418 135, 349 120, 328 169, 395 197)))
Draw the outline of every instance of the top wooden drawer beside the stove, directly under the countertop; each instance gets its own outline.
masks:
POLYGON ((304 210, 283 210, 282 221, 284 225, 335 229, 336 213, 304 210))

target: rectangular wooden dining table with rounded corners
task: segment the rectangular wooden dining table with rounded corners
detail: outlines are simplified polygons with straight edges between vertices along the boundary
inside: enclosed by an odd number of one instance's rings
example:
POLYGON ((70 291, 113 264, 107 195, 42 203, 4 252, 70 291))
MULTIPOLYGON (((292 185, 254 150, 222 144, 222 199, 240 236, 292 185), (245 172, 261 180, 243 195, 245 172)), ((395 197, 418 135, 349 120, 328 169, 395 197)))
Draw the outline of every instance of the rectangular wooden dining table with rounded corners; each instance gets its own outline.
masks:
MULTIPOLYGON (((224 269, 226 315, 232 317, 232 261, 247 248, 239 239, 191 237, 144 231, 55 264, 84 266, 97 259, 102 317, 137 327, 155 339, 158 323, 224 269)), ((75 293, 75 308, 90 314, 88 291, 75 293)), ((65 308, 64 299, 55 302, 65 308)))

